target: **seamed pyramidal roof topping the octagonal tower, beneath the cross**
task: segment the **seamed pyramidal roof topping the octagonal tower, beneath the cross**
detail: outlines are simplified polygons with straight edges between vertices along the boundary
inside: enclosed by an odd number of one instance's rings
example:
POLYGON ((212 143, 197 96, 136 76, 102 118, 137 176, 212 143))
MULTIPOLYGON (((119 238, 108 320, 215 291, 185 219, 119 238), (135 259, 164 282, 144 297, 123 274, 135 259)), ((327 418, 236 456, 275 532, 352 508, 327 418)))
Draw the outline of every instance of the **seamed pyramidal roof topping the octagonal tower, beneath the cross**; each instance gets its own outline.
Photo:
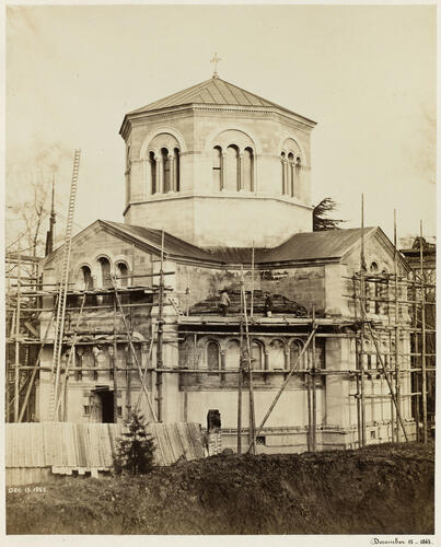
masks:
MULTIPOLYGON (((138 114, 141 112, 156 110, 171 106, 181 106, 184 104, 207 104, 207 105, 235 105, 235 106, 276 106, 288 110, 266 98, 251 93, 249 91, 237 88, 220 78, 210 78, 205 82, 192 85, 186 90, 178 91, 150 103, 141 108, 130 112, 129 114, 138 114)), ((288 110, 291 112, 291 110, 288 110)))

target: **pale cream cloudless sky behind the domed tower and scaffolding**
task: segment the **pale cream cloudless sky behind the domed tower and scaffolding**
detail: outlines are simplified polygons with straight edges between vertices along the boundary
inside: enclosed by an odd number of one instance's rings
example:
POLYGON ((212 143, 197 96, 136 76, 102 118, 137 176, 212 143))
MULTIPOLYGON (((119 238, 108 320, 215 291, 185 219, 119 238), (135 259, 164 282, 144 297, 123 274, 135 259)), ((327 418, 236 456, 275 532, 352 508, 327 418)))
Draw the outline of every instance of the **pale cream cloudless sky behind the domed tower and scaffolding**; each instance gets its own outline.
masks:
MULTIPOLYGON (((312 195, 345 228, 436 233, 433 5, 9 7, 7 194, 56 175, 76 222, 121 221, 124 115, 211 77, 317 121, 312 195)), ((66 201, 57 208, 66 213, 66 201)), ((62 220, 59 219, 62 224, 62 220)))

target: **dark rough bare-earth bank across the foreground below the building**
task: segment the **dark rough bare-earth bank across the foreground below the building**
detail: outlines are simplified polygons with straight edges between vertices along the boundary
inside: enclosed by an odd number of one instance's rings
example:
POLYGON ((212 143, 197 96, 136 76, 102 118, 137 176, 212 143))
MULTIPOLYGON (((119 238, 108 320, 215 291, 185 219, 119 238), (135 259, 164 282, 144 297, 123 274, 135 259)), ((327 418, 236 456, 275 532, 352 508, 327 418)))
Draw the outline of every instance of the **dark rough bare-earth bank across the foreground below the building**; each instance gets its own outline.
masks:
MULTIPOLYGON (((8 534, 433 534, 433 445, 216 456, 8 493, 8 534)), ((22 487, 23 490, 23 487, 22 487)))

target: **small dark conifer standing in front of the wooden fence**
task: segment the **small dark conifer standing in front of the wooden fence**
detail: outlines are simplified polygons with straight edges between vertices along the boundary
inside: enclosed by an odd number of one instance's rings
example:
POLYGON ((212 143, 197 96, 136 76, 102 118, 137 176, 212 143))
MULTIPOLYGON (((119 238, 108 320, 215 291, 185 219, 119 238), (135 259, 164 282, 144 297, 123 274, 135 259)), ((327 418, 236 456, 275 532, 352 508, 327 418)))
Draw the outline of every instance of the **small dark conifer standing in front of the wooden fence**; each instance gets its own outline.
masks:
POLYGON ((152 437, 147 432, 144 417, 139 411, 134 411, 125 426, 126 431, 117 440, 115 472, 147 475, 153 468, 155 447, 152 437))

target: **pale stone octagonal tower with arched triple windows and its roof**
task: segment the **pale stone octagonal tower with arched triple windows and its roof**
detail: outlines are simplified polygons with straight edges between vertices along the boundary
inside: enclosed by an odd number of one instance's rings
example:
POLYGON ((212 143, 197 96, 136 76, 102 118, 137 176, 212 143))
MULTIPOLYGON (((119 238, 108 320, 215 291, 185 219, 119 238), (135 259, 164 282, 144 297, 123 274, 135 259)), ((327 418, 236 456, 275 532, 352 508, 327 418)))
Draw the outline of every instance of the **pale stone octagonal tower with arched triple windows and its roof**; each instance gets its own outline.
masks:
POLYGON ((216 75, 125 116, 125 222, 201 247, 312 230, 315 121, 216 75))

